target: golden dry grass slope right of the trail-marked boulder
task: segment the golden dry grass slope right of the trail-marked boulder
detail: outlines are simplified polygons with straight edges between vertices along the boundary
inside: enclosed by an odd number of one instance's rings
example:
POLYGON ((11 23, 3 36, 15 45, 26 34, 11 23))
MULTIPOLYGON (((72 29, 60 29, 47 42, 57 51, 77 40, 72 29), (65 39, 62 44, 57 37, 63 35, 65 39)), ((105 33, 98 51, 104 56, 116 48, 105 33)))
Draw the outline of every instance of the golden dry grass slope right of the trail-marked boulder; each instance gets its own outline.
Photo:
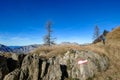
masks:
MULTIPOLYGON (((97 50, 97 47, 95 47, 97 50)), ((110 67, 106 72, 98 73, 95 80, 120 80, 120 47, 106 44, 101 51, 109 58, 110 67)))

